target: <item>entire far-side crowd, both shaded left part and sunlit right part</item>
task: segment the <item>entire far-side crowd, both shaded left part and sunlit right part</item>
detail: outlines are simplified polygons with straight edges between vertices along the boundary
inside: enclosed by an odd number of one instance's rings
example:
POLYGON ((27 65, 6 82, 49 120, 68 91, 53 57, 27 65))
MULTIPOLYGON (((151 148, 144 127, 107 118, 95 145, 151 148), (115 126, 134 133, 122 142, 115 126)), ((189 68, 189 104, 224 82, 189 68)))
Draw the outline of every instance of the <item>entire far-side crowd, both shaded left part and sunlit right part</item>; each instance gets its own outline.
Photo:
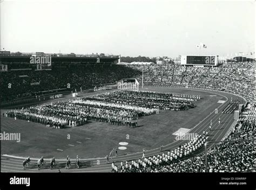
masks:
POLYGON ((1 102, 33 97, 35 94, 43 95, 45 91, 55 89, 71 92, 71 90, 79 90, 80 88, 82 90, 92 89, 95 86, 100 88, 104 87, 106 83, 115 83, 124 78, 136 78, 141 83, 143 69, 145 85, 225 89, 228 92, 252 97, 254 87, 253 64, 253 62, 228 62, 218 67, 203 68, 184 67, 178 64, 127 66, 53 64, 51 71, 35 72, 32 69, 3 72, 0 80, 3 88, 1 90, 1 102), (31 83, 37 84, 31 85, 31 83), (70 88, 67 88, 68 83, 70 88), (9 84, 11 84, 11 88, 9 88, 9 84))

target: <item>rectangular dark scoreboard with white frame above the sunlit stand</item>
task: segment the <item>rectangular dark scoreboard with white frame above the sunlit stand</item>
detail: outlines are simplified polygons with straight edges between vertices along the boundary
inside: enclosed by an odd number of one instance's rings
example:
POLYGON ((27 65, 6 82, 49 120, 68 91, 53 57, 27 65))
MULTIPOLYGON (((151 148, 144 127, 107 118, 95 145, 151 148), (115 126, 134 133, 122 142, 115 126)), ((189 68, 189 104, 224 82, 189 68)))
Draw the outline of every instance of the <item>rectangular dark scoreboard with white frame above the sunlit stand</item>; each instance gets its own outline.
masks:
POLYGON ((181 65, 217 66, 218 55, 181 55, 181 65))

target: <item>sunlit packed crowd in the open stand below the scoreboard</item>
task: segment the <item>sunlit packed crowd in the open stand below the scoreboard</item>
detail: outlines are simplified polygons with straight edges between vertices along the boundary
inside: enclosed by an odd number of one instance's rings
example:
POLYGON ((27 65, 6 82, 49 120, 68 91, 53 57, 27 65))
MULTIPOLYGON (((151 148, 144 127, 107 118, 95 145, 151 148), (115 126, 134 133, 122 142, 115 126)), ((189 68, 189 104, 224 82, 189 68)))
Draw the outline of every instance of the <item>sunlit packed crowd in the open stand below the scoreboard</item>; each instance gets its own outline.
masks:
MULTIPOLYGON (((140 72, 144 70, 144 85, 191 86, 225 89, 240 95, 253 97, 254 62, 229 62, 218 67, 184 67, 169 65, 130 65, 140 72)), ((141 73, 135 77, 142 82, 141 73)), ((252 98, 248 97, 249 101, 252 98)))

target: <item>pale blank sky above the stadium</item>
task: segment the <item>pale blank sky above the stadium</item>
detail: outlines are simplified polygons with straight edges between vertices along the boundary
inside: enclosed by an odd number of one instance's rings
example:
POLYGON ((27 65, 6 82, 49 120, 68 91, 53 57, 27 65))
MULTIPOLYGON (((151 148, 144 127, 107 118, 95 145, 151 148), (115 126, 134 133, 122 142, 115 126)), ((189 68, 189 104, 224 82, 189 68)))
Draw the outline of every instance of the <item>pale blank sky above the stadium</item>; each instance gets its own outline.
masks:
POLYGON ((122 56, 254 52, 254 2, 1 3, 1 48, 122 56), (199 50, 197 44, 207 48, 199 50), (201 51, 201 52, 200 52, 201 51))

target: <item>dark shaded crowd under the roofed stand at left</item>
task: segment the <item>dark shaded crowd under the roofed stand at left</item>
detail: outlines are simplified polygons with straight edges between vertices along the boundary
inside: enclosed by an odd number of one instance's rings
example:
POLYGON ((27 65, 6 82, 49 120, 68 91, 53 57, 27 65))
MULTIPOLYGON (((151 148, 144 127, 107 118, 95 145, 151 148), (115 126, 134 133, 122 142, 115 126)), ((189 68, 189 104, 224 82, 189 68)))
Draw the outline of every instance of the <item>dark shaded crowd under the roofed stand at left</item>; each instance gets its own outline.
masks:
MULTIPOLYGON (((31 64, 21 63, 20 65, 28 68, 31 64)), ((131 78, 138 73, 139 71, 122 65, 72 63, 52 64, 51 70, 34 71, 30 68, 28 70, 2 72, 0 76, 1 103, 35 97, 36 94, 43 96, 52 90, 59 92, 66 90, 71 93, 71 91, 75 92, 75 89, 84 91, 95 87, 100 88, 104 87, 104 84, 115 83, 123 78, 131 78)))

